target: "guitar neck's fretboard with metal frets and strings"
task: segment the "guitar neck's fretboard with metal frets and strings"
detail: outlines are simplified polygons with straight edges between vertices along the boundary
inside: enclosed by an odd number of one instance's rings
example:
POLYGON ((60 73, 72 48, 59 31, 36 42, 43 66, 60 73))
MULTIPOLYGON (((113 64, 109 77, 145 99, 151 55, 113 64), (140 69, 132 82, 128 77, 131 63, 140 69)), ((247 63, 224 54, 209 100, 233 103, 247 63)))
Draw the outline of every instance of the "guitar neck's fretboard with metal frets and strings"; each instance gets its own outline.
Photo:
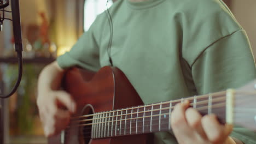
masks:
POLYGON ((225 122, 226 92, 194 96, 149 105, 129 107, 95 113, 92 118, 92 139, 154 133, 171 130, 171 112, 174 105, 189 100, 190 105, 202 115, 217 113, 225 122))

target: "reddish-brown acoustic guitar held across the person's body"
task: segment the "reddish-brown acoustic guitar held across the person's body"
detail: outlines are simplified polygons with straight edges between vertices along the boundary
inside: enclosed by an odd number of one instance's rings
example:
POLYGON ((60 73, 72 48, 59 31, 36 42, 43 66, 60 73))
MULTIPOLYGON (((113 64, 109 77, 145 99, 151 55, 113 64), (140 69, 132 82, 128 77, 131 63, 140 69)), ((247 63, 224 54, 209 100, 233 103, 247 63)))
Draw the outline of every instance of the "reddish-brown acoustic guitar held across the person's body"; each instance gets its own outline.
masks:
POLYGON ((152 143, 150 134, 171 130, 173 106, 184 100, 202 115, 216 113, 222 123, 256 130, 256 81, 240 89, 147 105, 115 67, 97 73, 72 68, 64 87, 77 102, 77 112, 61 134, 49 137, 49 144, 152 143))

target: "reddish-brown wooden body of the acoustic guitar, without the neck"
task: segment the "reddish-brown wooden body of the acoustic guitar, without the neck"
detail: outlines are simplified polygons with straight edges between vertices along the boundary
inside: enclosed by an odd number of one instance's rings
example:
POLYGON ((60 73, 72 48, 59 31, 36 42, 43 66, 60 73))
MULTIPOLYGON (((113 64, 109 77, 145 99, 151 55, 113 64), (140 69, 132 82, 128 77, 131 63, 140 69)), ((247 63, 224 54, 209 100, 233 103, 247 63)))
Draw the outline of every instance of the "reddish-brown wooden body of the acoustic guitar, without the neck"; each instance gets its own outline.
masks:
MULTIPOLYGON (((114 67, 104 67, 97 73, 72 68, 66 73, 64 87, 77 102, 77 112, 72 117, 143 104, 141 98, 123 72, 114 67)), ((79 124, 80 123, 81 122, 79 122, 79 124)), ((91 139, 91 127, 77 127, 76 125, 78 125, 78 123, 71 121, 69 126, 72 128, 67 128, 65 132, 57 136, 49 137, 48 143, 153 143, 153 140, 150 140, 153 136, 149 136, 150 134, 91 139)))

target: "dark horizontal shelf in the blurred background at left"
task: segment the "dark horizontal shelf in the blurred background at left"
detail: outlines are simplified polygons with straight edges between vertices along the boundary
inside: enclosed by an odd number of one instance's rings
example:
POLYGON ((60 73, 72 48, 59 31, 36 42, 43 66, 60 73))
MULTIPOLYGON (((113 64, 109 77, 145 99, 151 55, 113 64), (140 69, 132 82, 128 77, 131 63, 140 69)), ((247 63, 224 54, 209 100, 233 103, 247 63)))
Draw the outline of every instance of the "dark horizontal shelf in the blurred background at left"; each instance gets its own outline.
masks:
MULTIPOLYGON (((49 64, 53 61, 54 57, 23 58, 23 64, 49 64)), ((18 57, 0 57, 0 63, 18 63, 18 57)))

